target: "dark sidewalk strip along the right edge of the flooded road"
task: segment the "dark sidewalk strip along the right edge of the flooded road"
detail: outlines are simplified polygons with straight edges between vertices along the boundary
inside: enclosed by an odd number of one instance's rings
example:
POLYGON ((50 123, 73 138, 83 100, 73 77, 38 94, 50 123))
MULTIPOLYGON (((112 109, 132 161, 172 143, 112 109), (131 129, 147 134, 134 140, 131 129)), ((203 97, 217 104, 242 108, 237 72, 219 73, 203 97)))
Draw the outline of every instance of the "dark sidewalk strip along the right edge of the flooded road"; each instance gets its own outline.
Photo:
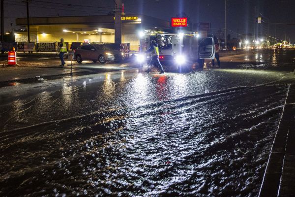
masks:
POLYGON ((259 196, 295 196, 295 85, 289 87, 259 196))

